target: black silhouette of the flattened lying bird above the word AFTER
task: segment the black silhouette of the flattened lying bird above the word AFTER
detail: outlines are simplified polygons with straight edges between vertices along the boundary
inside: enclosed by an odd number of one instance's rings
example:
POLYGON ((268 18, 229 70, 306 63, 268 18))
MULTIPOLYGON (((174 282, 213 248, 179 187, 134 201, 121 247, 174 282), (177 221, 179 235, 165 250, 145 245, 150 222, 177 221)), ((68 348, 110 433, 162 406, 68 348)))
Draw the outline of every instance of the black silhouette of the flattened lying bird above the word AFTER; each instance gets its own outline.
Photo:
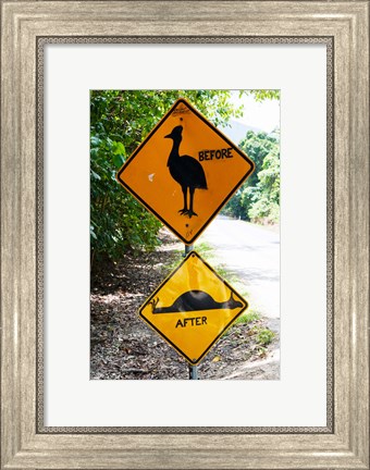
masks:
POLYGON ((197 311, 197 310, 215 310, 215 309, 234 309, 243 307, 243 304, 235 300, 233 293, 230 293, 230 298, 226 301, 218 302, 203 290, 187 290, 182 294, 169 307, 157 307, 159 298, 150 300, 152 313, 176 313, 181 311, 197 311))

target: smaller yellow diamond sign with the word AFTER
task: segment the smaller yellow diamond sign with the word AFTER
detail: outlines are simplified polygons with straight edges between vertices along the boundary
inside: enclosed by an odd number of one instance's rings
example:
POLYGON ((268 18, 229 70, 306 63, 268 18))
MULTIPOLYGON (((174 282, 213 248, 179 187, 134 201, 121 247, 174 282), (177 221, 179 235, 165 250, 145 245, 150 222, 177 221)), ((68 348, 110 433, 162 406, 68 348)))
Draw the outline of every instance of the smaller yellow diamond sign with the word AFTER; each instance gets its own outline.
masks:
POLYGON ((248 307, 196 251, 158 287, 139 316, 192 364, 197 364, 248 307))

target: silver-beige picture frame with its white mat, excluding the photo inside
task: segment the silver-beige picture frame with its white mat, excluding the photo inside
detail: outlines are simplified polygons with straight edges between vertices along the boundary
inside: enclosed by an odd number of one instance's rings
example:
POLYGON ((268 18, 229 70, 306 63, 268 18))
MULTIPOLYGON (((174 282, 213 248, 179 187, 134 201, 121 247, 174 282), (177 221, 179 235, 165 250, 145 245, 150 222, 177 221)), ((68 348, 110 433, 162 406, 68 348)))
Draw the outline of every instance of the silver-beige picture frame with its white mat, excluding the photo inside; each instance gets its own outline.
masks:
POLYGON ((1 468, 369 469, 369 2, 2 1, 1 35, 1 468), (274 88, 280 380, 89 380, 89 91, 274 88))

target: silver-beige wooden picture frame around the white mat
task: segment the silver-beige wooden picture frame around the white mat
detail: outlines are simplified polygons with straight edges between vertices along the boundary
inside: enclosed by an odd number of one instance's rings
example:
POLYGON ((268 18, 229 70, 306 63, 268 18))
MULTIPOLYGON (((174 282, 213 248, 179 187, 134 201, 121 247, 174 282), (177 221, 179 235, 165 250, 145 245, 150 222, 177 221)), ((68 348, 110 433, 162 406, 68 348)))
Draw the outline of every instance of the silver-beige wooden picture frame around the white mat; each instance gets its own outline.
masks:
POLYGON ((2 1, 1 34, 1 468, 369 469, 369 1, 2 1), (46 428, 44 46, 248 41, 326 46, 326 426, 46 428))

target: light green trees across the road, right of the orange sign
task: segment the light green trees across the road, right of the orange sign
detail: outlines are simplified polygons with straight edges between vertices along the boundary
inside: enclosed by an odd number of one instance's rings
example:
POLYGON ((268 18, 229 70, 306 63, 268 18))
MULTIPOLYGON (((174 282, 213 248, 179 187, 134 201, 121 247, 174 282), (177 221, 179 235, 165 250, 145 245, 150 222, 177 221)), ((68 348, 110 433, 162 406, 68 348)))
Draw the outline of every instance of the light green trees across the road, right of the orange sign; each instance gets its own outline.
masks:
POLYGON ((248 131, 246 137, 240 141, 239 148, 255 162, 256 169, 247 182, 227 202, 223 213, 254 222, 279 222, 279 134, 248 131))

